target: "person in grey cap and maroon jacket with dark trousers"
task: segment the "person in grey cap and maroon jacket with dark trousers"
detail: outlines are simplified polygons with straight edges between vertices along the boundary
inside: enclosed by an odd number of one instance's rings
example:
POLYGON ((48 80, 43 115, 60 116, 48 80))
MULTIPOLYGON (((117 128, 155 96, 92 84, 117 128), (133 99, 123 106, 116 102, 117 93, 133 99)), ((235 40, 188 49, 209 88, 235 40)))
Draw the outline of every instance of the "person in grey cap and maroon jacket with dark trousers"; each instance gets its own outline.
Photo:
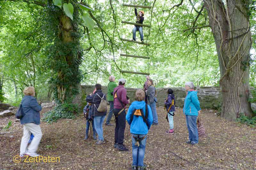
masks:
POLYGON ((125 108, 126 104, 130 103, 130 99, 126 96, 126 89, 124 79, 118 80, 118 86, 114 89, 114 115, 116 117, 116 128, 115 128, 115 144, 114 147, 121 151, 128 151, 124 146, 124 129, 125 129, 125 108))

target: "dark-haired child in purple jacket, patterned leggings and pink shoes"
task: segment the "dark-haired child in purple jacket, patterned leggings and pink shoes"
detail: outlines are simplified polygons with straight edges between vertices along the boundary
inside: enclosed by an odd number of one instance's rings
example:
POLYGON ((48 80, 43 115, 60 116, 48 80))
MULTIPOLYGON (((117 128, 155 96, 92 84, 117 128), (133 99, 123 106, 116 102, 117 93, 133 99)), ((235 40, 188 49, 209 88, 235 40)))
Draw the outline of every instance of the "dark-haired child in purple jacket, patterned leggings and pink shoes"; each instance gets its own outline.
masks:
POLYGON ((166 99, 166 101, 164 102, 165 106, 166 106, 166 111, 167 116, 168 116, 168 120, 169 120, 169 124, 170 124, 170 130, 167 130, 165 133, 169 133, 169 134, 173 134, 173 116, 174 116, 174 111, 175 111, 175 98, 174 98, 174 94, 173 94, 173 90, 172 89, 168 89, 167 90, 168 93, 168 97, 166 99))

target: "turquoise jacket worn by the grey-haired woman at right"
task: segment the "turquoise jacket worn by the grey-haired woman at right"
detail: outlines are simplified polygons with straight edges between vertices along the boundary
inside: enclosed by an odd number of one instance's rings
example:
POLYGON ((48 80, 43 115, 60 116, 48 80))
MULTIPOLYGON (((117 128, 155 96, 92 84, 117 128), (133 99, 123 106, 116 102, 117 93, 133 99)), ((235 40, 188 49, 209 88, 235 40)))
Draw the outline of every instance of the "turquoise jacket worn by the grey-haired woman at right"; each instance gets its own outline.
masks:
POLYGON ((200 102, 197 97, 197 91, 188 91, 184 100, 183 112, 185 115, 198 116, 198 111, 201 110, 200 102))

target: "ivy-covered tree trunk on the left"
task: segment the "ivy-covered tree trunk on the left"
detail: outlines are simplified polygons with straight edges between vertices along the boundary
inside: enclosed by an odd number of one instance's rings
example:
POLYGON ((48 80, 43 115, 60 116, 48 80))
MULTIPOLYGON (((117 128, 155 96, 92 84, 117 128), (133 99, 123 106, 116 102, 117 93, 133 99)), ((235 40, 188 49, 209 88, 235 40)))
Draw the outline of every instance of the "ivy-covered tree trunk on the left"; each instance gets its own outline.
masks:
MULTIPOLYGON (((53 5, 52 5, 53 6, 53 5)), ((53 6, 54 8, 59 8, 53 6)), ((73 20, 63 11, 59 11, 56 18, 59 20, 57 37, 52 45, 54 51, 52 58, 52 70, 55 76, 52 77, 52 86, 55 86, 55 99, 63 103, 73 103, 80 105, 82 73, 79 66, 82 60, 82 50, 80 48, 81 33, 78 31, 78 9, 74 5, 73 20)), ((52 11, 50 11, 51 13, 52 11)))

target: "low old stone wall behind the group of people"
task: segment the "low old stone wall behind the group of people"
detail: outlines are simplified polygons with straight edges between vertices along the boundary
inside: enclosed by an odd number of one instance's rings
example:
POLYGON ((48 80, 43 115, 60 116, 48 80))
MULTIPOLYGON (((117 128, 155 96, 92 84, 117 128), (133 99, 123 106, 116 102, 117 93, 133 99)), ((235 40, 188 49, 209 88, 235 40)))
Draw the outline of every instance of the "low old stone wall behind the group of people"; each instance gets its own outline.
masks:
MULTIPOLYGON (((136 88, 126 88, 127 96, 130 97, 130 101, 133 102, 135 99, 136 88)), ((169 88, 156 88, 157 94, 157 106, 164 106, 164 101, 167 97, 167 90, 169 88)), ((175 95, 176 107, 183 107, 184 99, 186 97, 185 88, 174 87, 171 88, 175 95)), ((253 87, 250 87, 250 91, 253 87)), ((85 97, 92 93, 94 85, 82 85, 83 100, 85 97)), ((198 99, 200 101, 201 108, 218 109, 221 103, 221 89, 219 87, 197 87, 198 99)), ((107 94, 107 86, 102 86, 103 93, 107 94)))

